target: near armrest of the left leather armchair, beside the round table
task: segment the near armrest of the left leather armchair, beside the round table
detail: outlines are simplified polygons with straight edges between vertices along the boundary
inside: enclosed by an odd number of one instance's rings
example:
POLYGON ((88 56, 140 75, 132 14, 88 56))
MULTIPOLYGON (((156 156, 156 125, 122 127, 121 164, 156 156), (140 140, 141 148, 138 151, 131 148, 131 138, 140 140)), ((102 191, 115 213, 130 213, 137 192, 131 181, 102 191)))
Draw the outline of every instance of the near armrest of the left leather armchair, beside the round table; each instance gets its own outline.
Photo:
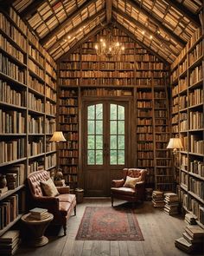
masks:
POLYGON ((59 211, 60 200, 52 196, 34 196, 33 199, 39 207, 48 208, 51 211, 59 211))

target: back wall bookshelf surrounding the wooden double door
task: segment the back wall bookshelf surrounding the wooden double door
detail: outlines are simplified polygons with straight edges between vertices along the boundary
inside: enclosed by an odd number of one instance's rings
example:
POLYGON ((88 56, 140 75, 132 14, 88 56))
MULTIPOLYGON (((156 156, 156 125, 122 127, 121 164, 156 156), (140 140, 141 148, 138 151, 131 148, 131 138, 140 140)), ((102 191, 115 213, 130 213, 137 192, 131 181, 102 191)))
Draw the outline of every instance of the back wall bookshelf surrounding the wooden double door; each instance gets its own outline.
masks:
MULTIPOLYGON (((171 156, 165 149, 169 141, 169 67, 115 28, 113 35, 124 44, 125 54, 120 58, 97 56, 94 45, 105 33, 105 30, 101 30, 59 62, 60 102, 72 99, 75 101, 73 111, 78 111, 76 117, 76 112, 70 114, 69 107, 60 106, 60 129, 67 128, 67 132, 64 132, 68 135, 70 128, 80 128, 79 106, 83 100, 116 99, 118 96, 127 101, 129 99, 134 113, 131 121, 131 136, 134 139, 131 140, 131 161, 128 165, 147 167, 147 186, 169 190, 174 185, 172 167, 169 167, 171 156), (70 92, 73 92, 74 97, 69 95, 70 92), (161 178, 166 174, 169 174, 168 179, 161 178)), ((80 133, 78 148, 79 135, 80 133)), ((67 156, 69 159, 71 154, 67 142, 61 143, 62 154, 63 169, 63 157, 67 156)), ((79 181, 79 174, 83 172, 81 168, 81 161, 78 159, 77 167, 74 167, 76 173, 73 175, 77 179, 77 185, 83 187, 79 181)), ((66 173, 67 170, 64 171, 66 173)))

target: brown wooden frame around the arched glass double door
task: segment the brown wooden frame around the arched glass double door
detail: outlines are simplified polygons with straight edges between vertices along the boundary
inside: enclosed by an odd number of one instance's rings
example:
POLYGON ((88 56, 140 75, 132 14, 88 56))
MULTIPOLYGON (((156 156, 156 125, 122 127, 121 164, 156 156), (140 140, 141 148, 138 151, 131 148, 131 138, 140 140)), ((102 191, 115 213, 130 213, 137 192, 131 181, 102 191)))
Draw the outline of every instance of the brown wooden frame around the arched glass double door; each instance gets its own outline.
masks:
POLYGON ((98 103, 98 102, 115 102, 116 104, 119 104, 119 102, 125 102, 127 104, 127 119, 129 121, 129 124, 127 125, 127 136, 126 141, 128 143, 127 149, 126 149, 126 166, 125 167, 131 167, 132 165, 132 153, 134 154, 134 150, 132 150, 132 140, 131 137, 134 137, 134 121, 131 120, 131 111, 132 108, 134 108, 134 99, 132 96, 125 96, 125 97, 99 97, 99 96, 82 96, 80 98, 80 187, 85 187, 85 157, 83 152, 85 152, 85 138, 83 136, 84 133, 84 127, 83 127, 83 121, 85 120, 85 112, 83 111, 86 102, 92 102, 92 103, 98 103))

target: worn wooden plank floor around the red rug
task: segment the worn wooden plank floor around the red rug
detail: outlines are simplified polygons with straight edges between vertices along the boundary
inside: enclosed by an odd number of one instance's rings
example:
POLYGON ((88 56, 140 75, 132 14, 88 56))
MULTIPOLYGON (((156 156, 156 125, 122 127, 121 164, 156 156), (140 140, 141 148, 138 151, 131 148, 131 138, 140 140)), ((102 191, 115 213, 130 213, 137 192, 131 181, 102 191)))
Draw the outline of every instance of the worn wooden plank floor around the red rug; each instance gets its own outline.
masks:
MULTIPOLYGON (((116 201, 116 205, 121 201, 116 201)), ((186 226, 181 217, 171 217, 161 209, 152 207, 151 202, 136 205, 137 220, 144 241, 75 240, 80 220, 87 206, 111 206, 110 199, 84 199, 77 206, 77 216, 67 222, 67 236, 48 228, 49 243, 38 248, 21 246, 16 255, 32 256, 182 256, 188 255, 175 247, 175 239, 182 236, 186 226)), ((196 254, 198 255, 198 254, 196 254)), ((201 254, 200 254, 201 255, 201 254)))

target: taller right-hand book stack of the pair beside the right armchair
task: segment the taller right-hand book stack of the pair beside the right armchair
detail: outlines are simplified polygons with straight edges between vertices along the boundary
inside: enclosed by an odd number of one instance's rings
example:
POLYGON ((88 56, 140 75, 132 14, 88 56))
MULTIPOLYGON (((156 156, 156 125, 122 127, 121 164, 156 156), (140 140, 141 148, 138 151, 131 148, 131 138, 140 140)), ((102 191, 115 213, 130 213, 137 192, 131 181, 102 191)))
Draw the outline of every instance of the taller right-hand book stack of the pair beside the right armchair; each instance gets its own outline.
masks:
POLYGON ((176 215, 179 212, 179 197, 175 193, 165 193, 164 194, 164 213, 169 215, 176 215))

